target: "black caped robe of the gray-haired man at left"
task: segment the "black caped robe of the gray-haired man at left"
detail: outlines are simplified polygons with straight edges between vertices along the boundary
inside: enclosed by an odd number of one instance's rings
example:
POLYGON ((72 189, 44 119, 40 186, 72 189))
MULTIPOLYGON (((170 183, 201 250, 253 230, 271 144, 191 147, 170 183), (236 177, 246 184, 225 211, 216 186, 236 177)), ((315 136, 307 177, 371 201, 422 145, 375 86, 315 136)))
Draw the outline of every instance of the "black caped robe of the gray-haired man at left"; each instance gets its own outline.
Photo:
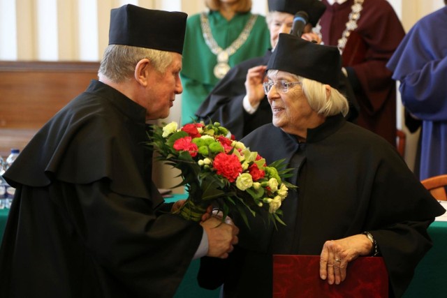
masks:
POLYGON ((156 212, 145 112, 92 81, 20 153, 4 175, 4 297, 173 297, 203 229, 156 212))

